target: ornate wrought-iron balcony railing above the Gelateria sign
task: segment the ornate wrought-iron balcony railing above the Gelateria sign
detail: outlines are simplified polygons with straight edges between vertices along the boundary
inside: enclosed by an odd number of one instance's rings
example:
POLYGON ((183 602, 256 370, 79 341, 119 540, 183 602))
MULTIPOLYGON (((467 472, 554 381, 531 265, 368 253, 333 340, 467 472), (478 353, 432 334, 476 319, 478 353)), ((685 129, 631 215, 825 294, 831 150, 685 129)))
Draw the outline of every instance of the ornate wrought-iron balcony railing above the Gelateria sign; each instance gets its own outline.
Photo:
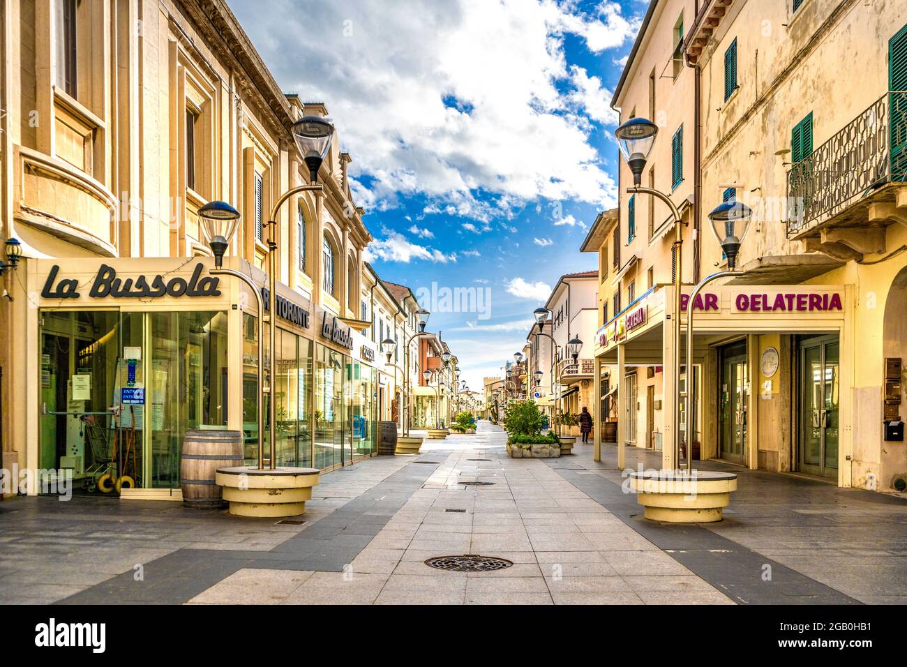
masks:
POLYGON ((907 181, 907 92, 886 93, 787 172, 787 234, 897 181, 907 181))

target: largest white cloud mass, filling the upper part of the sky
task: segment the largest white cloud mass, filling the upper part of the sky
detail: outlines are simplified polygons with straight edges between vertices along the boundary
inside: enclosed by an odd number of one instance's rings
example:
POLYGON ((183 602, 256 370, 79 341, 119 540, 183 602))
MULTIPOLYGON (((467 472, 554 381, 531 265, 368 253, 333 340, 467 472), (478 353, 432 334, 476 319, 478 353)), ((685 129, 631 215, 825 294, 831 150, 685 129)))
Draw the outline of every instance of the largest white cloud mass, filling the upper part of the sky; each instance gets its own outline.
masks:
POLYGON ((608 117, 600 82, 571 68, 564 37, 596 53, 625 44, 636 24, 617 3, 229 4, 283 88, 327 103, 352 175, 370 177, 354 183, 366 208, 423 194, 433 211, 492 221, 539 198, 615 204, 590 141, 590 120, 608 117))

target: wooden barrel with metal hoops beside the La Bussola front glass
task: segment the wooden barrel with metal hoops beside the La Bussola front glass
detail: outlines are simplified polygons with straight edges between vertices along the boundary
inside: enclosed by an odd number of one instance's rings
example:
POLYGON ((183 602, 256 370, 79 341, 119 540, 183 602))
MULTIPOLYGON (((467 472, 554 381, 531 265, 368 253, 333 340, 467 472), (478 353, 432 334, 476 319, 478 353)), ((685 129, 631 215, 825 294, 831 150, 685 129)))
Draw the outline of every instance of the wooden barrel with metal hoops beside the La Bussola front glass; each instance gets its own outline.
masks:
POLYGON ((242 466, 242 432, 186 431, 180 456, 182 502, 190 507, 225 507, 223 488, 214 483, 218 468, 242 466))

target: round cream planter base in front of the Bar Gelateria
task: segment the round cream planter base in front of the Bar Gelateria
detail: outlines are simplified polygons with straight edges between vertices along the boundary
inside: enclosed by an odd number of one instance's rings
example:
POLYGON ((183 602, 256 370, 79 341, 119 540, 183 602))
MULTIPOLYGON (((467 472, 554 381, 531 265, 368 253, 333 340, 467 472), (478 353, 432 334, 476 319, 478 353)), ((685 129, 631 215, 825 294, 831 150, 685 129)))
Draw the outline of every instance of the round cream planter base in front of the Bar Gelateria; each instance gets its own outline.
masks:
POLYGON ((629 484, 647 519, 668 524, 711 524, 721 521, 722 509, 730 505, 736 475, 645 470, 630 473, 629 484))

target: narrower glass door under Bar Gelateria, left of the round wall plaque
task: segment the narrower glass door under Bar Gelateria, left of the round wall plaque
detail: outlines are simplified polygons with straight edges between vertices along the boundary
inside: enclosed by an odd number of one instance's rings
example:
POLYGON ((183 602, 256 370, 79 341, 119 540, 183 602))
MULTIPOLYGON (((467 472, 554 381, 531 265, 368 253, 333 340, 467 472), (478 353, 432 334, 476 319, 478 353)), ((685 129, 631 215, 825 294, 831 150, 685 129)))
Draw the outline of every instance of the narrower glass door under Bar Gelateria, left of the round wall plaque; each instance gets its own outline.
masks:
POLYGON ((721 351, 721 384, 718 394, 718 457, 743 463, 746 458, 746 405, 749 370, 746 342, 721 351))

